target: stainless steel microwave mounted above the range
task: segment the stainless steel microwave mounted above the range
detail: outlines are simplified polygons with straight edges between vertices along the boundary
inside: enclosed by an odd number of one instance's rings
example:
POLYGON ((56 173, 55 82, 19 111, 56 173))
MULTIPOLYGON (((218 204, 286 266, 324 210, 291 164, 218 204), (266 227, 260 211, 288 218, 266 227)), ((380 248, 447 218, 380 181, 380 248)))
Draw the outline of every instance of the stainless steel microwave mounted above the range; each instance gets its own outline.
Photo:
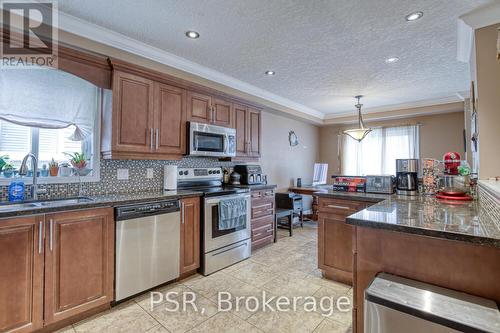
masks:
POLYGON ((216 125, 188 122, 188 155, 236 156, 236 130, 216 125))

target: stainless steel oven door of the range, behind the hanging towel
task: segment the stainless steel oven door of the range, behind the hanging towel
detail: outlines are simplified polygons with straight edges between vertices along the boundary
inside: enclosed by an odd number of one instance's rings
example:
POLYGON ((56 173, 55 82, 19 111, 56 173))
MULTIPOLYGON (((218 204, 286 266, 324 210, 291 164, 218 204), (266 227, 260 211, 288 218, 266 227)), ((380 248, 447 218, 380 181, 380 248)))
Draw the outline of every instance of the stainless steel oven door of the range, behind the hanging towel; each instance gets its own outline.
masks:
POLYGON ((250 193, 205 198, 204 253, 250 238, 250 193), (245 198, 247 214, 245 226, 238 229, 219 229, 219 203, 223 199, 245 198))

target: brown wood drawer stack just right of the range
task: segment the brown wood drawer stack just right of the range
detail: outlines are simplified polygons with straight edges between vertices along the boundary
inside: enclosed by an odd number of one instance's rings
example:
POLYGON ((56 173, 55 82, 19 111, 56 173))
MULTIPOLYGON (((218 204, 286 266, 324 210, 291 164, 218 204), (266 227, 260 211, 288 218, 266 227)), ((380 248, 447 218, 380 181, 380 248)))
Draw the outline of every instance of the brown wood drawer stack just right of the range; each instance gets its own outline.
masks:
POLYGON ((274 242, 274 190, 252 190, 251 192, 252 251, 274 242))

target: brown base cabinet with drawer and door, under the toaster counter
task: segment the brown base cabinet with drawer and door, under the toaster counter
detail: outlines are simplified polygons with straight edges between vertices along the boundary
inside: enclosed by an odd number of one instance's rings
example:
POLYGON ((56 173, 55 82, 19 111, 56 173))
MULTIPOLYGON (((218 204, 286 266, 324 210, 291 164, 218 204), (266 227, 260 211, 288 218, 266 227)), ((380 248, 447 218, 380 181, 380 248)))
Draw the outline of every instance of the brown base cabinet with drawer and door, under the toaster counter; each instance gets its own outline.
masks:
POLYGON ((318 268, 325 277, 352 285, 354 227, 345 218, 366 206, 361 201, 319 198, 318 268))

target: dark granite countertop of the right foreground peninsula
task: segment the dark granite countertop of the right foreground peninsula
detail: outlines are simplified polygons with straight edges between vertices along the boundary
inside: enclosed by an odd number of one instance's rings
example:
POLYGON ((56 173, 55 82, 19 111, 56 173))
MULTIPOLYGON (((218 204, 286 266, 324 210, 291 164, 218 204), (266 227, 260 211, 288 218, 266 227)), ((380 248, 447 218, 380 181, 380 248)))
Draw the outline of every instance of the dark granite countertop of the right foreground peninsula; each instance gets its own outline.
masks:
POLYGON ((479 201, 450 203, 392 195, 347 217, 346 223, 500 248, 500 221, 490 217, 479 201))

